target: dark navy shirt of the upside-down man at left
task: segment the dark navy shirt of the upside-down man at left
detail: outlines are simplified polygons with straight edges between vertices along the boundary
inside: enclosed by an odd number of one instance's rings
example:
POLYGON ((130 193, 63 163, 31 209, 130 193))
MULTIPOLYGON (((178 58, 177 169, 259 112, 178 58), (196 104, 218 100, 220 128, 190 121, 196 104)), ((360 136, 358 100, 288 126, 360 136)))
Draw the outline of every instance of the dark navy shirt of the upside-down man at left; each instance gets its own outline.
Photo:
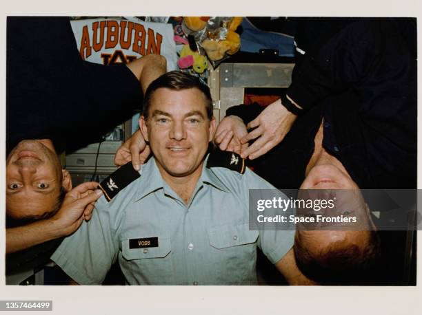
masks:
POLYGON ((8 17, 6 78, 8 149, 28 138, 88 144, 142 103, 127 67, 82 61, 66 17, 8 17))

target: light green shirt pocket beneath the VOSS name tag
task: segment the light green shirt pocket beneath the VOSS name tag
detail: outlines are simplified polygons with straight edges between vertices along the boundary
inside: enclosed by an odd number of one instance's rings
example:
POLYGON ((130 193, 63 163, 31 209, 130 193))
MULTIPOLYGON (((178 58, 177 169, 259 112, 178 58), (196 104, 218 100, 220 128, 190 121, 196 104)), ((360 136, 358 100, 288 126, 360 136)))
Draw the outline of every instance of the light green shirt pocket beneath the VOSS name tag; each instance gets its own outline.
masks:
MULTIPOLYGON (((137 236, 130 239, 148 237, 137 236)), ((172 284, 171 239, 158 237, 159 246, 129 248, 129 240, 121 241, 121 270, 130 284, 170 285, 172 284)))

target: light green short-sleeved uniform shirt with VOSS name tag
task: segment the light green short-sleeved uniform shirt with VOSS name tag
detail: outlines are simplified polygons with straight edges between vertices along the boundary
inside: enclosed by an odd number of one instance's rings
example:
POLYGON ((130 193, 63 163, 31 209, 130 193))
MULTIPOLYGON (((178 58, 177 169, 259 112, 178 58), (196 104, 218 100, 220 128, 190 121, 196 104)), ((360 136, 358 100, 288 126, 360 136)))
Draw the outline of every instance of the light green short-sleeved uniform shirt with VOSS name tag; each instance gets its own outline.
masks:
POLYGON ((140 172, 111 202, 101 197, 52 255, 77 283, 101 284, 119 259, 131 285, 255 285, 257 246, 272 263, 292 248, 294 230, 249 229, 249 189, 274 189, 249 169, 204 166, 188 204, 154 158, 140 172), (147 240, 154 247, 133 248, 147 240))

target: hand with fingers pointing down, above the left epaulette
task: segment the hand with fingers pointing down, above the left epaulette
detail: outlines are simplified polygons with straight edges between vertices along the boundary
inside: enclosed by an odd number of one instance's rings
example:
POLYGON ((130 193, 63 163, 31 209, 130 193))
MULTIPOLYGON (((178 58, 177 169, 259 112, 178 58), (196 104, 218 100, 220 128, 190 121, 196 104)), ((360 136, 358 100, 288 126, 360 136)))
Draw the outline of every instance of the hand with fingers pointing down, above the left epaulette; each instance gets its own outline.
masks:
POLYGON ((132 161, 133 168, 139 171, 140 165, 146 161, 150 153, 150 146, 146 144, 141 131, 138 130, 117 149, 114 164, 123 166, 132 161))

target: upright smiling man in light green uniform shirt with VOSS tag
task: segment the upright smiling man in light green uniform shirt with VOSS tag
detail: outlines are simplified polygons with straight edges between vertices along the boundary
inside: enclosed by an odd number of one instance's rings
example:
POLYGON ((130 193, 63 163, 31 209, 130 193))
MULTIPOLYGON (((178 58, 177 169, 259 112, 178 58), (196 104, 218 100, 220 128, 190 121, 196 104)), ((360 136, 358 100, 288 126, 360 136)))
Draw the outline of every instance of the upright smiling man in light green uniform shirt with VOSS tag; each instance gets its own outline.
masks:
POLYGON ((132 285, 255 285, 257 246, 289 283, 307 281, 294 230, 249 228, 249 190, 274 187, 239 155, 207 155, 216 124, 208 87, 164 74, 148 87, 139 124, 153 157, 101 183, 92 219, 52 255, 74 281, 101 284, 118 259, 132 285))

